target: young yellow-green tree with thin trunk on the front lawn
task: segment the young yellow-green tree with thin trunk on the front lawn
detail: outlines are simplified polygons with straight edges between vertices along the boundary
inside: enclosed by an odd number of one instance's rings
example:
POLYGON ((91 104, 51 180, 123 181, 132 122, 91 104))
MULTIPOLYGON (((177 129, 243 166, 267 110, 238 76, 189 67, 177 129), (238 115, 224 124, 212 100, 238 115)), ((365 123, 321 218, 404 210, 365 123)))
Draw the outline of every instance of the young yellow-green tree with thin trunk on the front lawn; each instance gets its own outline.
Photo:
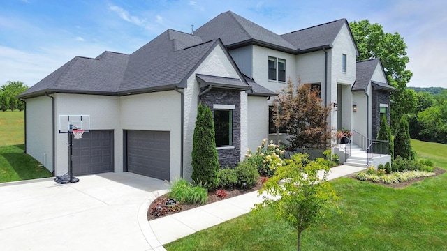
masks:
POLYGON ((286 165, 277 168, 274 176, 259 190, 266 192, 261 204, 256 204, 255 212, 270 206, 274 216, 285 220, 298 231, 298 250, 301 250, 301 233, 312 224, 325 217, 331 209, 338 209, 335 190, 326 180, 330 160, 317 158, 309 160, 309 155, 298 153, 284 160, 286 165), (318 170, 323 170, 320 178, 318 170))

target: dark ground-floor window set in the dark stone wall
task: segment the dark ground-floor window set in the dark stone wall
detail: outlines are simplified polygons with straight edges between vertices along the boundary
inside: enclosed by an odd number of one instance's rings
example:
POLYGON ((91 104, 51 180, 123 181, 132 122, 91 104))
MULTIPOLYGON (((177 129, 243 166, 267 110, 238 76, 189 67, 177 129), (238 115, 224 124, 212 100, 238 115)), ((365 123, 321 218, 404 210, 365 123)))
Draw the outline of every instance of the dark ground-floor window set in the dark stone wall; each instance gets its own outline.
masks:
POLYGON ((214 137, 216 146, 231 146, 233 131, 233 111, 214 109, 214 137))

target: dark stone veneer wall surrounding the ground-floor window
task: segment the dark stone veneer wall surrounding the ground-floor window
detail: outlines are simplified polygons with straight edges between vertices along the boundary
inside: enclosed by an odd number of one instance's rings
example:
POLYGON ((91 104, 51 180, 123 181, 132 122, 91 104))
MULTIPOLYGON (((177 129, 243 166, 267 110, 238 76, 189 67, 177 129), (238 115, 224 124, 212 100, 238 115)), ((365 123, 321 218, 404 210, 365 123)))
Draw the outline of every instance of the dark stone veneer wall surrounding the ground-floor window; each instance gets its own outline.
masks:
MULTIPOLYGON (((200 89, 202 92, 205 89, 200 89)), ((233 110, 233 146, 232 149, 218 149, 219 165, 221 168, 235 167, 240 161, 240 91, 229 91, 223 89, 211 89, 211 91, 205 93, 200 97, 202 105, 207 105, 213 112, 213 105, 234 105, 233 110)))

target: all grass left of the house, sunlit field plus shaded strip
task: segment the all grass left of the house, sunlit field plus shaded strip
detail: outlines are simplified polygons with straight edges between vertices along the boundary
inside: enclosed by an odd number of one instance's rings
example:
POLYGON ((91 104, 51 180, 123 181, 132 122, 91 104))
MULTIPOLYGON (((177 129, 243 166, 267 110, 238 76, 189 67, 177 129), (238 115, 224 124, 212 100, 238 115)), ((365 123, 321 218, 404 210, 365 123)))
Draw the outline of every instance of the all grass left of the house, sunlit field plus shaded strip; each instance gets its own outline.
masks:
POLYGON ((50 177, 24 152, 24 112, 0 112, 0 183, 50 177))

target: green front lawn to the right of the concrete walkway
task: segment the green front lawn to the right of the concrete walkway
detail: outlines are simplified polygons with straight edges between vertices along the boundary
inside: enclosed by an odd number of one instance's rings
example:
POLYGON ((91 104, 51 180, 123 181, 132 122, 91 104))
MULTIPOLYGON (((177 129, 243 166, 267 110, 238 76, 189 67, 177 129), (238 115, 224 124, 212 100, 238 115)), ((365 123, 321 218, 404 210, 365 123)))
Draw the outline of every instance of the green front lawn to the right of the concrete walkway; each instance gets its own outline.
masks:
MULTIPOLYGON (((412 140, 418 158, 447 169, 447 145, 412 140)), ((404 189, 337 178, 335 214, 302 234, 302 250, 447 250, 447 173, 404 189)), ((270 209, 186 236, 172 250, 296 250, 297 234, 270 209)))

